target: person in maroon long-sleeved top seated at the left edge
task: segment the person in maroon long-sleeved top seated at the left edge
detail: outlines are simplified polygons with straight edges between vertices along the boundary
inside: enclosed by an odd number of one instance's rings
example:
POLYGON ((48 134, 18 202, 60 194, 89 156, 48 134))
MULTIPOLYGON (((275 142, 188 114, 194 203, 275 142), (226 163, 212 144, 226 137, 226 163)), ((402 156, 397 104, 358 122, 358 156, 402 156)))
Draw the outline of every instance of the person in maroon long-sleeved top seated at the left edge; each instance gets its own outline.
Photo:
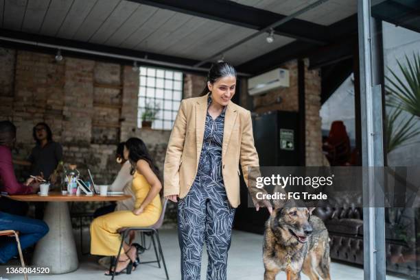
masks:
MULTIPOLYGON (((3 194, 32 194, 38 191, 36 179, 19 183, 14 175, 12 152, 16 142, 16 127, 8 120, 0 121, 0 192, 3 194)), ((0 198, 0 211, 25 216, 27 203, 13 201, 4 196, 0 198)))

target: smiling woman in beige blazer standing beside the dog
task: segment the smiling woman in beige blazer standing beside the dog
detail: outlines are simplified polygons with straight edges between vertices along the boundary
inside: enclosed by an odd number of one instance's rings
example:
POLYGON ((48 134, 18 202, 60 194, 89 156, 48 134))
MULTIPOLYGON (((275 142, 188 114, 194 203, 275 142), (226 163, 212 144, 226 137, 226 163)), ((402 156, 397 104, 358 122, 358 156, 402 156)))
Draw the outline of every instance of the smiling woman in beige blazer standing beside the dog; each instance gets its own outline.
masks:
POLYGON ((202 97, 180 104, 167 147, 164 195, 178 203, 182 279, 200 279, 201 253, 207 244, 207 279, 226 279, 227 252, 235 208, 240 204, 240 169, 257 210, 264 190, 248 185, 248 167, 259 166, 250 112, 231 101, 236 71, 214 64, 202 97))

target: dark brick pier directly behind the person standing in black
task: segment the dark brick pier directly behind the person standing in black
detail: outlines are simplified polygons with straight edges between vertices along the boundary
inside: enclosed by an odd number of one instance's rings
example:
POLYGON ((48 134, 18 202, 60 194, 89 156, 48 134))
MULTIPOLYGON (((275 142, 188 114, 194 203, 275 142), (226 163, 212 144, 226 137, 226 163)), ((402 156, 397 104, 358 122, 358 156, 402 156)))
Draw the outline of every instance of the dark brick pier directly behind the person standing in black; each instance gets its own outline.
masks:
POLYGON ((16 58, 13 122, 18 129, 20 144, 31 143, 32 127, 38 122, 49 123, 60 140, 64 96, 64 63, 56 63, 54 55, 18 51, 16 58))

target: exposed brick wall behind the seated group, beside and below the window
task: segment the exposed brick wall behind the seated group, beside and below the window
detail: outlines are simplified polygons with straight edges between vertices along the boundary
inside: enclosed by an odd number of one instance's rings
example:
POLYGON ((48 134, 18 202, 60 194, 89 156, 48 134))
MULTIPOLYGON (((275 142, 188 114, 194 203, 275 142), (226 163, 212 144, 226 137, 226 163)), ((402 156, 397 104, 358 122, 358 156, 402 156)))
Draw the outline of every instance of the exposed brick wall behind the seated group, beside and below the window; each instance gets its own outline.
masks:
MULTIPOLYGON (((143 139, 163 170, 170 131, 137 129, 139 73, 131 66, 77 58, 56 62, 54 55, 2 48, 0 63, 0 119, 17 127, 15 158, 30 154, 32 127, 45 121, 63 146, 65 162, 77 164, 82 175, 90 168, 95 183, 112 183, 119 170, 116 144, 129 137, 143 139)), ((16 171, 20 179, 29 172, 21 166, 16 171)))

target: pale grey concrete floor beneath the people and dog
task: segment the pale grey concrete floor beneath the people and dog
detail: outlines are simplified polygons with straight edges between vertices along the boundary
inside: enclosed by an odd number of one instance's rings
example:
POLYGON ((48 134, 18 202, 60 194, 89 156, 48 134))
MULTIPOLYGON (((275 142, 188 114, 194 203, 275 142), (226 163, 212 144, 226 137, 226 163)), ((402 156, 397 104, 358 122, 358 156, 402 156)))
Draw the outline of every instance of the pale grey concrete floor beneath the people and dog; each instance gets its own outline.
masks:
MULTIPOLYGON (((163 229, 160 231, 163 253, 166 260, 167 269, 171 280, 180 279, 180 251, 178 246, 178 237, 175 229, 163 229)), ((89 240, 89 232, 84 232, 85 240, 89 240)), ((75 231, 76 241, 78 242, 78 231, 75 231)), ((262 264, 262 244, 263 236, 246 233, 243 231, 233 231, 231 249, 229 251, 228 279, 229 280, 257 280, 263 279, 264 267, 262 264)), ((86 246, 89 251, 89 245, 86 246)), ((141 261, 154 259, 154 251, 146 251, 141 255, 141 261)), ((101 280, 110 279, 104 275, 105 268, 97 263, 95 256, 80 256, 80 267, 75 272, 65 275, 30 275, 29 279, 47 279, 47 280, 101 280)), ((207 253, 203 252, 201 279, 205 279, 207 269, 207 253)), ((10 277, 9 275, 0 275, 0 279, 23 279, 22 275, 10 277)), ((119 275, 116 279, 166 279, 165 270, 158 268, 157 264, 141 264, 131 275, 119 275)), ((277 280, 285 279, 285 274, 277 275, 277 280)), ((308 278, 303 275, 302 279, 308 278)), ((339 280, 357 280, 363 279, 363 270, 354 266, 345 264, 331 264, 331 279, 339 280)), ((402 279, 398 277, 387 276, 387 280, 402 279)))

